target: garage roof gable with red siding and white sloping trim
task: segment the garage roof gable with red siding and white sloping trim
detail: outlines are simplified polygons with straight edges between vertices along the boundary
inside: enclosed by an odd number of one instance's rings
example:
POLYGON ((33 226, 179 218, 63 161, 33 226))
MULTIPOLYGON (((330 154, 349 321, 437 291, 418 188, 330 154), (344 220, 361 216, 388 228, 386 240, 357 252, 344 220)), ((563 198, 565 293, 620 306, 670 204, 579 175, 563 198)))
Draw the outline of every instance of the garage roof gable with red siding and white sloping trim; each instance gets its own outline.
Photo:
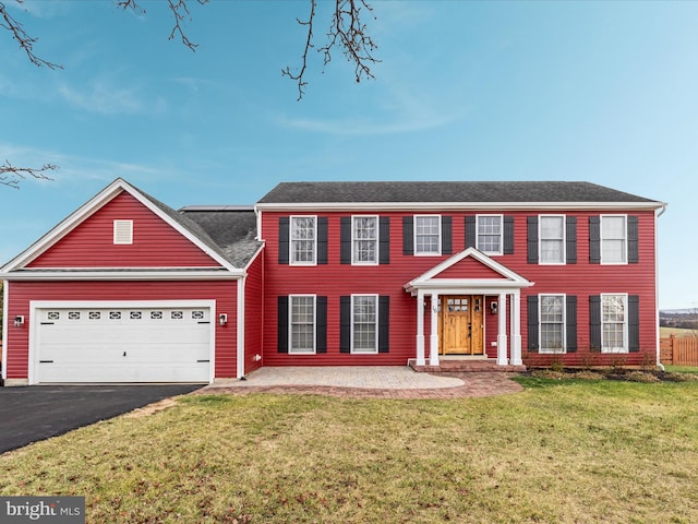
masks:
POLYGON ((177 219, 177 215, 174 210, 117 179, 5 264, 2 272, 23 267, 168 266, 238 272, 203 229, 188 224, 188 218, 177 219), (112 223, 117 218, 134 219, 132 246, 113 246, 112 223), (176 249, 158 249, 164 242, 176 249))

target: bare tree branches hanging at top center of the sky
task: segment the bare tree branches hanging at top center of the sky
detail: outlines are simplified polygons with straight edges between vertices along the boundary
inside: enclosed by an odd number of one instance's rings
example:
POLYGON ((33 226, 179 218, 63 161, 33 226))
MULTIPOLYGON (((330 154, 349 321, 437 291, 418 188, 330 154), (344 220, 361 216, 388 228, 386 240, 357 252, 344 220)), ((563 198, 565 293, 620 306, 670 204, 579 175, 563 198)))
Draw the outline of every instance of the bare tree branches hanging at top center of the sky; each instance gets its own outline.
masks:
MULTIPOLYGON (((300 25, 308 26, 308 38, 301 56, 301 67, 298 73, 291 72, 290 67, 281 70, 282 75, 298 82, 299 100, 305 94, 305 86, 308 85, 308 82, 303 80, 308 69, 308 52, 315 47, 313 45, 313 22, 315 20, 316 0, 310 0, 310 2, 311 11, 308 21, 298 20, 300 25)), ((366 24, 361 21, 362 9, 373 15, 373 8, 368 0, 335 0, 335 13, 327 32, 328 41, 317 49, 317 52, 324 55, 324 66, 327 66, 332 61, 333 49, 340 48, 347 60, 354 66, 357 83, 361 82, 362 79, 373 79, 371 67, 380 62, 373 56, 378 46, 366 33, 366 24)))

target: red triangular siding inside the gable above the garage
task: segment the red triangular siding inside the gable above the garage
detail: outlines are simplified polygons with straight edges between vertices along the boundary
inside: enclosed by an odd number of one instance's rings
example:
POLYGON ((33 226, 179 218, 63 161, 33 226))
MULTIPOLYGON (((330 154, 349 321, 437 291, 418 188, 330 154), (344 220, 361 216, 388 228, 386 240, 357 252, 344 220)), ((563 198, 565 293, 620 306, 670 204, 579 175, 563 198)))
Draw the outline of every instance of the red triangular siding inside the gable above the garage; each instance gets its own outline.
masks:
POLYGON ((28 267, 215 267, 210 257, 121 192, 28 267), (133 243, 113 245, 113 221, 133 221, 133 243))

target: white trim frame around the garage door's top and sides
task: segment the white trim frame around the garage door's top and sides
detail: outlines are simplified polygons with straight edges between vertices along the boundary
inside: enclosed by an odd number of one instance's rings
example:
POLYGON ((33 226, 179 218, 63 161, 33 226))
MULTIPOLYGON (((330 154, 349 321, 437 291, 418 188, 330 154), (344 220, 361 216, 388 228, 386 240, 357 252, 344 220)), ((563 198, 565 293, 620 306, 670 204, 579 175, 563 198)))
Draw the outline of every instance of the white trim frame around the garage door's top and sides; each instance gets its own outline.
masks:
MULTIPOLYGON (((29 341, 28 341, 28 384, 37 383, 36 367, 38 362, 37 309, 86 309, 86 308, 208 308, 210 311, 210 334, 208 338, 208 382, 213 383, 216 369, 216 300, 29 300, 29 341)), ((4 361, 4 360, 3 360, 4 361)))

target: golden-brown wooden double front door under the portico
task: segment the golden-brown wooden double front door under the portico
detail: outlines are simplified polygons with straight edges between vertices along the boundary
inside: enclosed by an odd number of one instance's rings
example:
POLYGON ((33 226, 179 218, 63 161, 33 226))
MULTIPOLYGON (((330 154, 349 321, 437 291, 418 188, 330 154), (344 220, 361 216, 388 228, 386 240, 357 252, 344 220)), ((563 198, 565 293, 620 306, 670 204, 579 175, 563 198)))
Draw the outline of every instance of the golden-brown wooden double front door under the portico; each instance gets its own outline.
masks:
POLYGON ((483 355, 483 311, 482 295, 441 297, 438 353, 441 355, 483 355))

